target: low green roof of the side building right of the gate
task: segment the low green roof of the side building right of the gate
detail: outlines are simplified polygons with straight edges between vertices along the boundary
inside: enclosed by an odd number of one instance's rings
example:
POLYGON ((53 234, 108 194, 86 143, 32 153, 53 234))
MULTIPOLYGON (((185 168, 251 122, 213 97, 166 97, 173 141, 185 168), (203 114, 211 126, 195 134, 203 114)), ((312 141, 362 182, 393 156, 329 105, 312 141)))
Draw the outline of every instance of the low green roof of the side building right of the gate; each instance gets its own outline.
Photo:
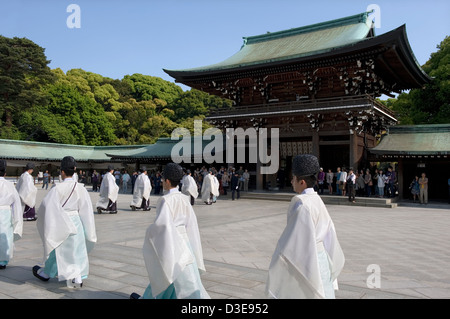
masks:
POLYGON ((398 125, 370 153, 378 156, 448 156, 450 124, 398 125))

